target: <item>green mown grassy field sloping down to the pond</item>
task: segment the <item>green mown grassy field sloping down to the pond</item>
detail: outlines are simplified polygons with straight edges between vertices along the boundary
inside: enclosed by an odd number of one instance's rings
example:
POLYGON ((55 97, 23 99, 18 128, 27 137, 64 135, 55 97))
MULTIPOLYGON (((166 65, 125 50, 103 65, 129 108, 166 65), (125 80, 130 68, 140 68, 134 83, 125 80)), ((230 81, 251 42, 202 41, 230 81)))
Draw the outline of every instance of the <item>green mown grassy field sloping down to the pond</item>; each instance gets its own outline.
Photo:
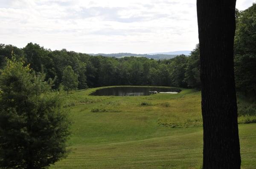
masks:
MULTIPOLYGON (((201 168, 200 92, 88 96, 94 90, 67 96, 66 107, 73 119, 71 152, 51 169, 201 168)), ((241 168, 255 169, 256 124, 239 124, 239 135, 241 168)))

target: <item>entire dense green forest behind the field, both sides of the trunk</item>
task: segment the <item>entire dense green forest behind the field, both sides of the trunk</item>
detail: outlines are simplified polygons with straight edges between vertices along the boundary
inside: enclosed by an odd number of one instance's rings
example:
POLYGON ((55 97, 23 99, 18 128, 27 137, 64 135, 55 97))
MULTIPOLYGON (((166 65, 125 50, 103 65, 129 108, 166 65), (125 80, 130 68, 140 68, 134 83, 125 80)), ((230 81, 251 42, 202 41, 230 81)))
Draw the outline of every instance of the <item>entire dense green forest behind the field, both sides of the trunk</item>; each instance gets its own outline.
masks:
MULTIPOLYGON (((256 4, 236 11, 235 74, 237 91, 256 96, 256 4)), ((111 85, 157 85, 200 89, 199 46, 189 56, 155 60, 145 57, 90 56, 62 49, 51 51, 38 44, 24 48, 0 44, 0 68, 6 59, 22 58, 35 72, 55 79, 54 88, 63 82, 63 72, 71 66, 78 77, 78 89, 111 85)))

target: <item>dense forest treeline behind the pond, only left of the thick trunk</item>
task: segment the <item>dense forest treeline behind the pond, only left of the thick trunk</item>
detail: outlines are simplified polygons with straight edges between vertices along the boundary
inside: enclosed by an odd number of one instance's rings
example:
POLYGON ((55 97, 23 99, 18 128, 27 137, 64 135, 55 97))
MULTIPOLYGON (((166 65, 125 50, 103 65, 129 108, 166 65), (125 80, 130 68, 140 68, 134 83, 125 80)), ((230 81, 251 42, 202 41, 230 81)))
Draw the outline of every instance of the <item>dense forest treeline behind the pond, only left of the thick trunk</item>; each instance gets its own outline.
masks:
POLYGON ((32 70, 43 71, 47 79, 55 78, 55 88, 61 85, 63 71, 71 66, 78 75, 79 89, 110 85, 158 85, 199 87, 198 46, 191 56, 179 55, 173 59, 155 60, 145 57, 90 56, 62 49, 51 51, 29 43, 24 48, 1 45, 1 68, 6 57, 23 58, 32 70))

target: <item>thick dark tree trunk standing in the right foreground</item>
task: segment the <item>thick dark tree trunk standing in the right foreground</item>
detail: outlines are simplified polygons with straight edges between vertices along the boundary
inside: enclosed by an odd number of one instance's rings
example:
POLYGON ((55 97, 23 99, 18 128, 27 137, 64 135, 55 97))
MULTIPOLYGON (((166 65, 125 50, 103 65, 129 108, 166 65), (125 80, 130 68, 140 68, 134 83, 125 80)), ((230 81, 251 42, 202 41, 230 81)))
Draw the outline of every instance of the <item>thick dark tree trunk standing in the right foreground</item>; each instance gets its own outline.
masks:
POLYGON ((240 169, 233 44, 236 0, 197 0, 203 169, 240 169))

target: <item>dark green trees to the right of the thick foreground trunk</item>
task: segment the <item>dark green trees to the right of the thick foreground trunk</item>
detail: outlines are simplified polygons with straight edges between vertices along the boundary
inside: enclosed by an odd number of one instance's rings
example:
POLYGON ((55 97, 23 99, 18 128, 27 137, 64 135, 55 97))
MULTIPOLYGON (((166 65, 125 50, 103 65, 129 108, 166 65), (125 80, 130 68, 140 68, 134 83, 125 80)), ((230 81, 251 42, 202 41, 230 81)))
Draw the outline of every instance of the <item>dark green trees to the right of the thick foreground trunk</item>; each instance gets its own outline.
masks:
POLYGON ((236 87, 256 98, 256 3, 237 11, 235 36, 236 87))

